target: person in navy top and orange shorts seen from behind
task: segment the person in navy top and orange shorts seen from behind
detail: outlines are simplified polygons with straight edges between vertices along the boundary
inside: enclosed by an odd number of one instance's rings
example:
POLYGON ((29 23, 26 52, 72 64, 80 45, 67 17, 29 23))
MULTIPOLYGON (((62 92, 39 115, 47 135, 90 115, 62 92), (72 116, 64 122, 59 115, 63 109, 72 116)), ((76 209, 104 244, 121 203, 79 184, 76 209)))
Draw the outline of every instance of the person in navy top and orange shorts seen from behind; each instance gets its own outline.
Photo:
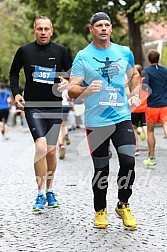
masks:
POLYGON ((147 99, 146 121, 148 159, 143 163, 146 166, 156 165, 154 129, 157 123, 162 123, 167 137, 167 68, 159 65, 160 53, 151 49, 148 52, 150 66, 142 72, 143 82, 151 89, 147 99))

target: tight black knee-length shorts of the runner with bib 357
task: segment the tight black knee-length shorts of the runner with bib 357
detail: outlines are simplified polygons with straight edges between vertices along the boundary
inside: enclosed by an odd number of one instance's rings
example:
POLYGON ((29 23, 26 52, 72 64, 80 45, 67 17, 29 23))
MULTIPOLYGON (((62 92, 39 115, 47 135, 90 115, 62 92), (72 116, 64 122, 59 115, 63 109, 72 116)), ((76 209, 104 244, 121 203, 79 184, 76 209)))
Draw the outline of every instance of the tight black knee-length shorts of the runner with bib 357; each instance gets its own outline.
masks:
POLYGON ((48 145, 56 145, 62 123, 62 108, 25 109, 25 117, 34 141, 46 137, 48 145))

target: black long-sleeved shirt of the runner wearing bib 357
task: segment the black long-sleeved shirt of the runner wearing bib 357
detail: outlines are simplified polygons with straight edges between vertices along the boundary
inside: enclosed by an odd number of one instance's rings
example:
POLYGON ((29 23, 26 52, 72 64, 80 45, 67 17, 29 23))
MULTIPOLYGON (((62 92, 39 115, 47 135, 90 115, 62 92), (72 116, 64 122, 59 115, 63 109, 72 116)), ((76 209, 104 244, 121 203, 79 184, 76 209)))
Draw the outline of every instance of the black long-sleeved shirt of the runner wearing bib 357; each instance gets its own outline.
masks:
POLYGON ((17 50, 10 69, 12 94, 14 97, 19 94, 19 74, 23 68, 25 101, 61 101, 62 98, 53 92, 53 85, 60 82, 58 76, 65 75, 61 72, 70 71, 71 66, 69 52, 57 43, 39 45, 31 42, 23 45, 17 50))

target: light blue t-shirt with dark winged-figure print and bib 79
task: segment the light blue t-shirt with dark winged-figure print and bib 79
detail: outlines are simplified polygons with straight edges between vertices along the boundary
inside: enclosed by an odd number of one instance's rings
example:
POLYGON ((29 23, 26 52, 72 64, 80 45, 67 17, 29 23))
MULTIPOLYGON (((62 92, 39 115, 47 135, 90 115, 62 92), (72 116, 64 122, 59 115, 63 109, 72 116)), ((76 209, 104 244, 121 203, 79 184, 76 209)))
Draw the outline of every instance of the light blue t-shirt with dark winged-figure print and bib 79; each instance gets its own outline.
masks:
POLYGON ((84 78, 84 85, 94 80, 103 82, 99 93, 84 99, 85 126, 101 127, 131 119, 126 96, 126 71, 134 66, 130 49, 111 43, 106 49, 89 44, 78 52, 73 62, 71 76, 84 78))

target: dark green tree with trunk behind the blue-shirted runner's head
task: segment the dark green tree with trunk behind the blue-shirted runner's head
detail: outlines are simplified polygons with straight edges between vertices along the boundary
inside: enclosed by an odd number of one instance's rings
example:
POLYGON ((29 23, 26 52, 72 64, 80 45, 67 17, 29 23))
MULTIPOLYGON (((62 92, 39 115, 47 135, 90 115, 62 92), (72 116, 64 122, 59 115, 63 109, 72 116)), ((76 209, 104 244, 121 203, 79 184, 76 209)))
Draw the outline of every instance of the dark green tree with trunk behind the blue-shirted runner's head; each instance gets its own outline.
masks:
POLYGON ((88 23, 91 15, 98 11, 106 12, 112 17, 113 34, 112 39, 116 43, 129 45, 135 55, 137 63, 142 65, 142 46, 141 30, 142 24, 150 18, 154 20, 164 15, 167 9, 167 3, 164 0, 22 0, 31 6, 28 16, 44 14, 49 16, 55 28, 55 36, 58 41, 66 45, 73 55, 80 46, 85 44, 85 40, 90 42, 91 37, 88 30, 88 23), (146 14, 145 9, 148 4, 157 8, 156 15, 146 14), (122 20, 127 18, 127 24, 122 24, 122 20), (70 35, 67 35, 69 34, 70 35), (65 35, 66 34, 66 35, 65 35), (73 34, 73 35, 72 35, 73 34), (72 35, 72 36, 71 36, 72 35), (59 39, 59 36, 61 39, 59 39), (76 39, 82 43, 78 43, 76 39), (71 40, 73 37, 73 40, 71 40), (73 43, 72 43, 73 42, 73 43), (75 44, 75 46, 74 46, 75 44), (75 48, 75 50, 74 50, 75 48))

